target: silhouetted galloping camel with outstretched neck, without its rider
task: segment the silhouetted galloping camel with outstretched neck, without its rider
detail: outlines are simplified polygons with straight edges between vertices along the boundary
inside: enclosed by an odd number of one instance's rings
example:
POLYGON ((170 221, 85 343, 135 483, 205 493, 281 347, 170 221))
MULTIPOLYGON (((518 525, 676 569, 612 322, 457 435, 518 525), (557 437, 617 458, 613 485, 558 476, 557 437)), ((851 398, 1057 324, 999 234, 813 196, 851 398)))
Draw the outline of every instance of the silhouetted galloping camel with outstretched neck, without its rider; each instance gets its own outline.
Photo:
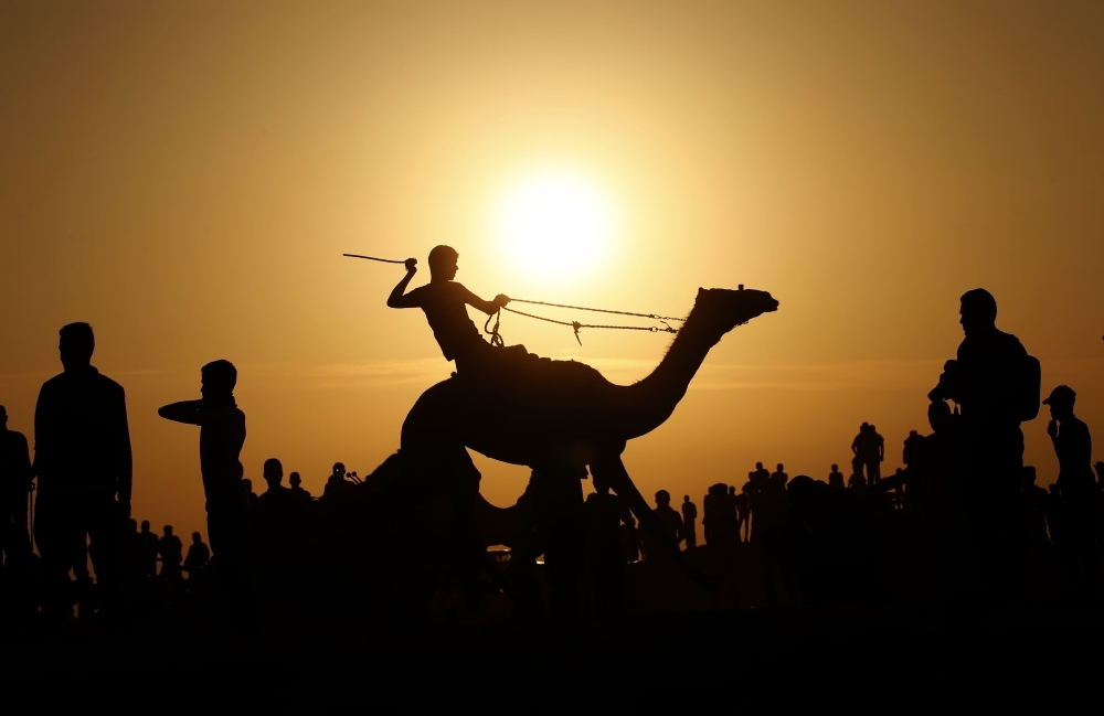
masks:
POLYGON ((528 466, 534 475, 574 481, 575 490, 590 468, 692 579, 709 585, 712 580, 687 563, 666 536, 620 456, 628 440, 647 435, 671 416, 725 333, 777 308, 778 301, 766 291, 742 286, 699 289, 662 361, 650 375, 626 386, 611 383, 583 363, 541 359, 521 346, 505 349, 499 384, 454 375, 425 391, 403 424, 401 452, 412 469, 437 475, 453 494, 466 495, 470 505, 478 496, 479 472, 467 449, 528 466))

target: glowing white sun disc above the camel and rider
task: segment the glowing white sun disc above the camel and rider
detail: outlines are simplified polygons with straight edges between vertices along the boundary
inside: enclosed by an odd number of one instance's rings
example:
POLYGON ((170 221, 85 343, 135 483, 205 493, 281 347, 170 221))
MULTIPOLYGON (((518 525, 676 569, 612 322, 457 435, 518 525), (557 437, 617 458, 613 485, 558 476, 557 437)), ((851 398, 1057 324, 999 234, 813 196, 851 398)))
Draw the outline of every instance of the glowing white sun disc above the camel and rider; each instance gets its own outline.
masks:
POLYGON ((549 172, 506 193, 497 233, 512 268, 562 284, 591 274, 605 259, 614 217, 599 188, 578 175, 549 172))

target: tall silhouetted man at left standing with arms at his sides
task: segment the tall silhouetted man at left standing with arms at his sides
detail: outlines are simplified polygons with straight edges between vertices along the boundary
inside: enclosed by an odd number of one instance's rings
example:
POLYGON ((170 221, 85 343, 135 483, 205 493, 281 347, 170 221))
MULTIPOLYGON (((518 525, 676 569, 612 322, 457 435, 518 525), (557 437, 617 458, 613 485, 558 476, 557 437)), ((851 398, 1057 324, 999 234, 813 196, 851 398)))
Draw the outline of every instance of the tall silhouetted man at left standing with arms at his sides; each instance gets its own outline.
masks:
POLYGON ((73 549, 87 534, 100 615, 113 621, 118 603, 116 535, 130 517, 126 395, 92 366, 92 327, 70 323, 60 335, 65 371, 42 385, 34 410, 34 535, 42 556, 43 608, 53 620, 68 611, 65 592, 73 549))

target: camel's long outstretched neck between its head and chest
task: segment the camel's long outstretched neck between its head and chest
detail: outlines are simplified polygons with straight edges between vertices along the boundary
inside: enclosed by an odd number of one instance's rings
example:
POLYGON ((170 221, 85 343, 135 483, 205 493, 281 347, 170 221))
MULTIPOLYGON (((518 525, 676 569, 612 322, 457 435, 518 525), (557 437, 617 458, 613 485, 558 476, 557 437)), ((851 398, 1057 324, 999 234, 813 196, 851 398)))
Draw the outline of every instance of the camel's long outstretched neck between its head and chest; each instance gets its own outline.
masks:
POLYGON ((670 417, 705 355, 723 334, 723 330, 709 325, 701 316, 690 313, 656 370, 623 389, 618 407, 623 410, 626 437, 650 432, 670 417))

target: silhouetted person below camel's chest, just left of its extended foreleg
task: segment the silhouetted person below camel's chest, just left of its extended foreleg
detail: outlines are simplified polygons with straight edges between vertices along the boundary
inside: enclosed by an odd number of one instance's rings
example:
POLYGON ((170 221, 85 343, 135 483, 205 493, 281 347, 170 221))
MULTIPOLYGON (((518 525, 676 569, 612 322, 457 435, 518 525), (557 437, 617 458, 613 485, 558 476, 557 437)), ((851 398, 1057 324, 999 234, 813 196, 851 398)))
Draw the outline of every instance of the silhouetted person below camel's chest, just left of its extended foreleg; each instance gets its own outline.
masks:
MULTIPOLYGON (((593 475, 594 492, 586 496, 583 513, 586 515, 586 556, 594 584, 594 602, 599 616, 619 615, 625 606, 625 563, 623 525, 633 524, 633 515, 625 503, 611 494, 609 485, 599 475, 593 475)), ((636 553, 636 532, 631 533, 633 553, 636 553)))

